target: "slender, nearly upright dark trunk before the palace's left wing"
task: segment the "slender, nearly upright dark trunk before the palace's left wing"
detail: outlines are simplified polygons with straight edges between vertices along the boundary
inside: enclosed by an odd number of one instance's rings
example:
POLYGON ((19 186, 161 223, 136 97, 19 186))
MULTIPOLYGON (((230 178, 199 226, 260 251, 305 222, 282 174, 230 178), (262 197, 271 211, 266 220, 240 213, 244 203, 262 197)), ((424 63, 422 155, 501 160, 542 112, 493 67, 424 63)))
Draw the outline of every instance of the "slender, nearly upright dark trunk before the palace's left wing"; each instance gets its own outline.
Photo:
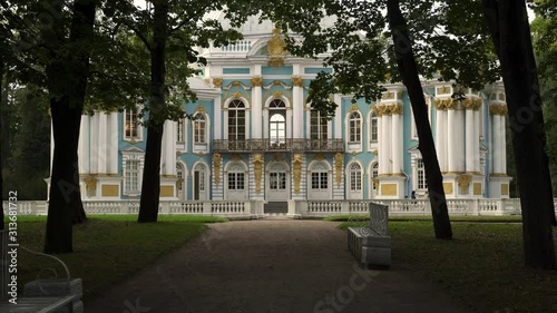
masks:
MULTIPOLYGON (((166 40, 168 38, 168 0, 153 2, 153 49, 150 50, 150 101, 145 148, 145 169, 139 204, 139 223, 154 223, 158 217, 160 196, 160 150, 163 146, 166 96, 166 40)), ((169 165, 167 165, 169 166, 169 165)))

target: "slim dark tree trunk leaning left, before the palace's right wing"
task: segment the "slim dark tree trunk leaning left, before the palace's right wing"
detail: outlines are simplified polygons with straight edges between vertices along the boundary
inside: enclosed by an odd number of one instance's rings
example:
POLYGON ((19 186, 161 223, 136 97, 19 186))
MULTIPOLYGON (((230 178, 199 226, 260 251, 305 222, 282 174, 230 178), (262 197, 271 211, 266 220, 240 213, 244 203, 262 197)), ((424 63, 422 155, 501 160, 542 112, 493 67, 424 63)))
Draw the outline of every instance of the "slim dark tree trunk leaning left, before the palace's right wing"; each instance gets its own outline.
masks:
POLYGON ((451 239, 452 229, 449 221, 447 199, 444 197, 443 177, 439 167, 439 160, 437 159, 433 135, 429 125, 428 107, 423 98, 423 89, 416 66, 407 21, 400 11, 399 0, 389 0, 387 12, 394 42, 397 65, 402 77, 402 82, 407 87, 410 97, 418 138, 420 140, 419 149, 426 168, 436 238, 451 239))

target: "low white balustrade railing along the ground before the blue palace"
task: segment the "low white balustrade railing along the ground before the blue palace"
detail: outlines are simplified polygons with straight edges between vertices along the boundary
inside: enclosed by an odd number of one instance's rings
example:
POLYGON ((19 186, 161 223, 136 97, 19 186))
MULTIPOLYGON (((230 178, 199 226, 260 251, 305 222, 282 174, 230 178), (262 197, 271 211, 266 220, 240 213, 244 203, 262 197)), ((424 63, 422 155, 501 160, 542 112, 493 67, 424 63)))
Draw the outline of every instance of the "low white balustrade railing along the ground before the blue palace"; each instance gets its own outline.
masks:
MULTIPOLYGON (((290 200, 290 215, 328 216, 338 214, 368 214, 370 202, 389 206, 391 215, 430 215, 429 199, 334 199, 290 200)), ((557 212, 557 198, 554 199, 557 212)), ((520 199, 447 199, 451 215, 519 215, 520 199)), ((8 202, 2 203, 8 214, 8 202)), ((138 214, 139 200, 84 200, 87 214, 138 214)), ((17 202, 18 215, 46 215, 46 200, 17 202)), ((263 215, 263 202, 258 200, 162 200, 160 214, 190 215, 263 215)))

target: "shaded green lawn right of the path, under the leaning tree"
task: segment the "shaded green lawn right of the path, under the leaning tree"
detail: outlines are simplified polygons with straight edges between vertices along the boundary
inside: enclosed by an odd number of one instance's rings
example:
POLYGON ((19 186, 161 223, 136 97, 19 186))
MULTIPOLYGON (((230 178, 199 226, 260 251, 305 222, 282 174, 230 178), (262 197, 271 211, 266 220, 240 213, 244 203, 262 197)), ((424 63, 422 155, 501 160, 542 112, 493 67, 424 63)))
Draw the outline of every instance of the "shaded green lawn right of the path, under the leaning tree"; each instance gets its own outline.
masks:
MULTIPOLYGON (((362 224, 342 223, 340 228, 362 224)), ((391 222, 389 228, 393 260, 440 284, 463 305, 479 312, 557 313, 557 272, 524 266, 521 225, 456 223, 452 241, 434 239, 426 221, 391 222)))

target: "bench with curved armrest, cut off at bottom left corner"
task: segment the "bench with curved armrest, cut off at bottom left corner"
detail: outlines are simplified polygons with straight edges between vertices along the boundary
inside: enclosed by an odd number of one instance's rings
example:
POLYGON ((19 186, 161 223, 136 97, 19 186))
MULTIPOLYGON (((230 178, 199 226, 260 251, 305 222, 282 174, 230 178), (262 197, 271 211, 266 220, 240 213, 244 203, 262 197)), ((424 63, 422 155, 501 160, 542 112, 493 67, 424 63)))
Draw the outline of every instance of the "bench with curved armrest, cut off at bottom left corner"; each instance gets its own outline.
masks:
POLYGON ((10 283, 10 256, 8 255, 8 232, 0 231, 0 312, 56 312, 56 313, 82 313, 84 303, 81 280, 71 280, 69 270, 61 260, 56 256, 30 251, 22 245, 18 246, 18 254, 22 250, 39 256, 46 256, 59 262, 66 271, 65 280, 37 280, 23 287, 23 295, 17 297, 17 304, 9 300, 11 295, 8 284, 10 283))

